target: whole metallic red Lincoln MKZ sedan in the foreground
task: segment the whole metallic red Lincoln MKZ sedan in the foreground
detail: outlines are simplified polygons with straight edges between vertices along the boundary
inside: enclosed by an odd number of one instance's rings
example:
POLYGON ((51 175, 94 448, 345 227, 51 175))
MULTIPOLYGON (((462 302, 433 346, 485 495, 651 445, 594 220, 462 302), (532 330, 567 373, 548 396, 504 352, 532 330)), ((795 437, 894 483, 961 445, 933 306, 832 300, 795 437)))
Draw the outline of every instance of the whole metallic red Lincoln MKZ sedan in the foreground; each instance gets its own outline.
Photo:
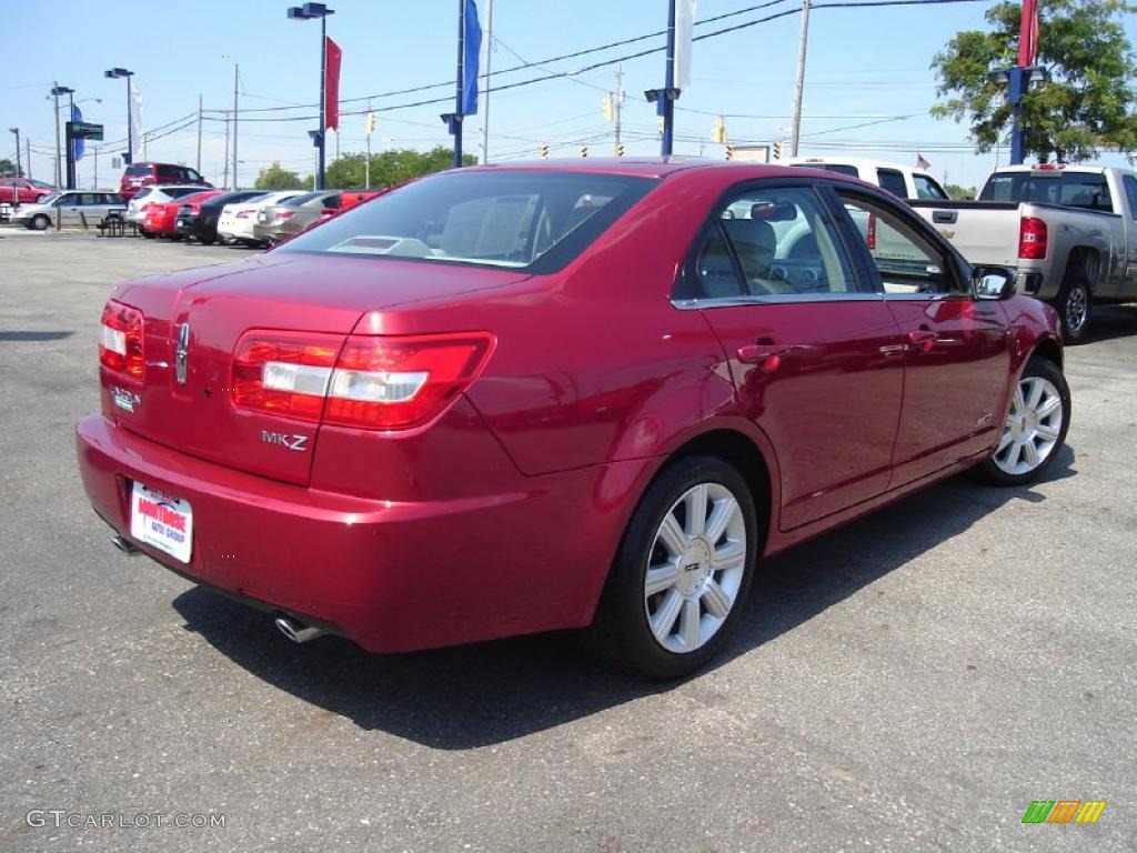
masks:
POLYGON ((78 463, 119 548, 292 639, 587 627, 675 676, 766 555, 1054 463, 1057 317, 1011 289, 832 173, 464 168, 118 285, 78 463))

